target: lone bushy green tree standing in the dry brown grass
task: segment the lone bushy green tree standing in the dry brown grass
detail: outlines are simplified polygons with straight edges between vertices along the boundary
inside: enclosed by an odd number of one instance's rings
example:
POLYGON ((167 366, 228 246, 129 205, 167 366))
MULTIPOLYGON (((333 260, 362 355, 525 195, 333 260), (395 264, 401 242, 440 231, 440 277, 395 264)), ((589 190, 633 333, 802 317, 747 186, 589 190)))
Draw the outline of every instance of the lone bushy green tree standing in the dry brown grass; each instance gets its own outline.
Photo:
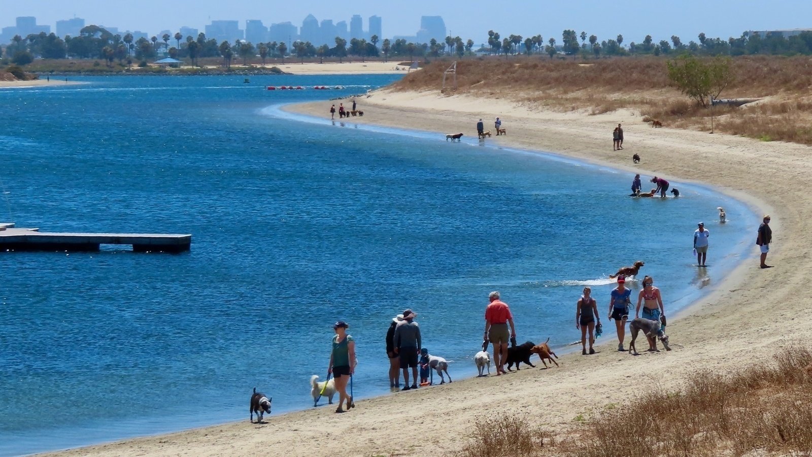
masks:
POLYGON ((667 62, 668 79, 680 92, 707 107, 734 81, 730 63, 729 57, 703 61, 691 54, 682 54, 667 62))

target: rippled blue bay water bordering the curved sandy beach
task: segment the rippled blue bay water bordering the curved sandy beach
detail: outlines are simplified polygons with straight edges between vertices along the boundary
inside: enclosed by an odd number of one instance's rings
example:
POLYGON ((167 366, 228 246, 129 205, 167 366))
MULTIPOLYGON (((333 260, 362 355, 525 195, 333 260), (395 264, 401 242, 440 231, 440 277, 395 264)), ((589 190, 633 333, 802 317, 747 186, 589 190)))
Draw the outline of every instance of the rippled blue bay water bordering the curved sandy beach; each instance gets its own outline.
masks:
POLYGON ((356 396, 385 393, 383 337, 407 307, 425 346, 467 376, 491 290, 520 340, 562 346, 580 337, 583 285, 603 310, 604 278, 642 259, 670 312, 752 247, 757 218, 712 189, 672 181, 683 198, 626 198, 625 172, 278 108, 322 99, 326 113, 327 98, 397 77, 0 90, 0 221, 192 233, 180 255, 0 254, 0 455, 248 424, 255 386, 274 414, 312 407, 309 375, 324 376, 337 319, 356 338, 356 396), (691 255, 698 220, 711 230, 706 270, 691 255))

